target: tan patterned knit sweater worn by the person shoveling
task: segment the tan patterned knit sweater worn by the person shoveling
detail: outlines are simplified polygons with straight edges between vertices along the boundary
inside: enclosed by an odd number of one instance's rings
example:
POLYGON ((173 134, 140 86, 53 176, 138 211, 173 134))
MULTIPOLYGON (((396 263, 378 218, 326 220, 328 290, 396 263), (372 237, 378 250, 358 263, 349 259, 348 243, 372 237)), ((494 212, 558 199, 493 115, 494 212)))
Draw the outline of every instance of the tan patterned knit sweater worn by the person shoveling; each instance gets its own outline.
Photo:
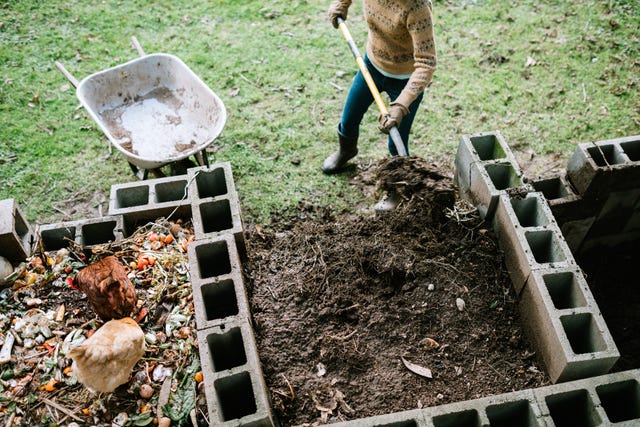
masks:
MULTIPOLYGON (((334 1, 346 17, 352 0, 334 1)), ((363 6, 369 26, 367 56, 388 73, 411 74, 396 99, 409 106, 431 83, 436 69, 431 1, 363 0, 363 6)))

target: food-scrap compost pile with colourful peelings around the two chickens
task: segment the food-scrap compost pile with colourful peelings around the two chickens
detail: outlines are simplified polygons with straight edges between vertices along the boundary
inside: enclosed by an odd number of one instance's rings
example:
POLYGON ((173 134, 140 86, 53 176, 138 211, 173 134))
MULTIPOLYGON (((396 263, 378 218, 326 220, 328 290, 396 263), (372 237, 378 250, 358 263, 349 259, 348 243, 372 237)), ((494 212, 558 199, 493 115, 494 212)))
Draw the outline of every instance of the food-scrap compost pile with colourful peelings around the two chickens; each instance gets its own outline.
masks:
POLYGON ((158 220, 131 237, 91 251, 69 242, 36 251, 0 292, 0 337, 10 359, 0 365, 0 411, 10 425, 183 425, 206 414, 189 281, 189 222, 158 220), (102 325, 73 277, 114 255, 138 295, 136 321, 146 351, 129 382, 94 394, 77 382, 67 357, 102 325), (193 414, 193 415, 192 415, 193 414))

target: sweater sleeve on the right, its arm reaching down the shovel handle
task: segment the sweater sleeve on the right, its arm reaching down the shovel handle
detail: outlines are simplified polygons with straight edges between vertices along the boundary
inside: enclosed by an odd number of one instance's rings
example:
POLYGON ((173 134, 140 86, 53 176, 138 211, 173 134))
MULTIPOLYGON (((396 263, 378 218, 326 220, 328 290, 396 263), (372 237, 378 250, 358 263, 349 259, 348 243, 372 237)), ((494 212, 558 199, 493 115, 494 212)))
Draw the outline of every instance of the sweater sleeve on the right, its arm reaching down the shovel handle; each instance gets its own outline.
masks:
POLYGON ((407 108, 431 83, 436 70, 436 47, 433 35, 431 2, 411 13, 407 29, 413 43, 414 71, 398 98, 394 101, 407 108))

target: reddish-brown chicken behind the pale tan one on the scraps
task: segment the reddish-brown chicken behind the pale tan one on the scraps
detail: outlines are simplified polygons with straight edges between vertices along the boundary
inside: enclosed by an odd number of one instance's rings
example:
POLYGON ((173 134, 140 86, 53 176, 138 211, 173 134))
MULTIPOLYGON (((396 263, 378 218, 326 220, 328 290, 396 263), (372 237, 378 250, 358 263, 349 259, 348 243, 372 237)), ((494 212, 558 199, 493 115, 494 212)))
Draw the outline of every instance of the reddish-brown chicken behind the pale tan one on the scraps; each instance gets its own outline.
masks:
POLYGON ((89 305, 104 321, 130 316, 138 303, 138 295, 124 266, 113 255, 80 270, 76 286, 87 295, 89 305))

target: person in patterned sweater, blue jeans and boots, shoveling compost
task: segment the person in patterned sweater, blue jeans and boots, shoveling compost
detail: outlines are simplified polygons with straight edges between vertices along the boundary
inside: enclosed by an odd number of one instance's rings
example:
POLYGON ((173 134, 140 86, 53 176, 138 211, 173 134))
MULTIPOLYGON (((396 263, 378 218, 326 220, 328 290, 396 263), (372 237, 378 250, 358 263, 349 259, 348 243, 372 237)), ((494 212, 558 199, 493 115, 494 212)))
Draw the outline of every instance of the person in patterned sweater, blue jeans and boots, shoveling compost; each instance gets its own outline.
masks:
MULTIPOLYGON (((346 21, 352 0, 333 0, 328 18, 338 28, 338 18, 346 21)), ((364 63, 380 92, 391 100, 389 115, 378 116, 378 128, 383 133, 396 126, 409 153, 409 132, 425 88, 436 70, 436 50, 433 15, 430 0, 363 0, 368 26, 364 63)), ((364 114, 374 102, 364 76, 358 71, 342 110, 338 124, 338 150, 322 164, 326 174, 341 172, 349 160, 358 154, 358 135, 364 114)), ((398 154, 391 139, 388 149, 398 154)), ((400 196, 386 194, 376 204, 376 210, 394 209, 400 196)))

